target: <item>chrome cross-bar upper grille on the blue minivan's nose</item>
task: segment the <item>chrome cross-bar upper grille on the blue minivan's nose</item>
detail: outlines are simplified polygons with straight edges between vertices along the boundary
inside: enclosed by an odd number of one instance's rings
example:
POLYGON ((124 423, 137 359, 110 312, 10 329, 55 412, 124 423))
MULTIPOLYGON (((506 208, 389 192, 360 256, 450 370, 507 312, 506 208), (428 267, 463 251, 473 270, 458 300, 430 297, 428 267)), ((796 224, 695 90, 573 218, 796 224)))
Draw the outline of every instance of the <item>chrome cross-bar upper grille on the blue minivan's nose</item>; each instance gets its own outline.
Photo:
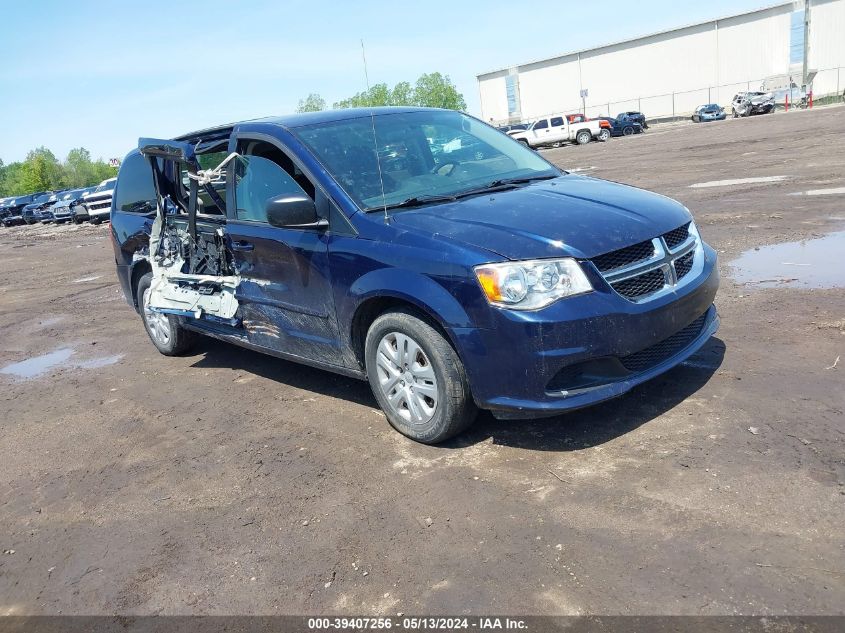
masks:
POLYGON ((598 255, 590 261, 617 293, 629 301, 641 302, 674 286, 692 271, 696 246, 687 222, 652 240, 598 255))

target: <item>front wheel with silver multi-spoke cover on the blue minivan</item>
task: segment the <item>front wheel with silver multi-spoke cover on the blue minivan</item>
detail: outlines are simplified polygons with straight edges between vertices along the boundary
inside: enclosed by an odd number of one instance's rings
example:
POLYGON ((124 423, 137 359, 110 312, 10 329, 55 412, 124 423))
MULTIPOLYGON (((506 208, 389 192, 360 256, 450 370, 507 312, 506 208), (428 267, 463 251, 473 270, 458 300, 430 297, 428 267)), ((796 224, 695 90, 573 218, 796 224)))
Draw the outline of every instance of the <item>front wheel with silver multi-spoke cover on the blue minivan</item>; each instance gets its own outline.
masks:
POLYGON ((402 435, 437 444, 475 420, 478 410, 458 353, 416 314, 397 310, 373 321, 364 358, 373 394, 402 435), (413 358, 403 357, 401 350, 413 358))

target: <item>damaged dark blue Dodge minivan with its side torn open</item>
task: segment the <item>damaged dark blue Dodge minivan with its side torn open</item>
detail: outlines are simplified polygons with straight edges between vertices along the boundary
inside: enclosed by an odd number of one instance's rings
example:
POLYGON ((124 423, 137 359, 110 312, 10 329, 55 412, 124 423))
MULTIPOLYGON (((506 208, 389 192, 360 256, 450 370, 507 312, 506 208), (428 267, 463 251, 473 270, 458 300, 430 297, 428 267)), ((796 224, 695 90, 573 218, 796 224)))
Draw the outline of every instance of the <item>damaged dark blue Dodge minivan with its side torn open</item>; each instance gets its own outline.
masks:
POLYGON ((465 114, 372 108, 141 139, 111 217, 159 351, 197 334, 368 380, 420 442, 625 393, 704 345, 716 254, 678 202, 465 114))

